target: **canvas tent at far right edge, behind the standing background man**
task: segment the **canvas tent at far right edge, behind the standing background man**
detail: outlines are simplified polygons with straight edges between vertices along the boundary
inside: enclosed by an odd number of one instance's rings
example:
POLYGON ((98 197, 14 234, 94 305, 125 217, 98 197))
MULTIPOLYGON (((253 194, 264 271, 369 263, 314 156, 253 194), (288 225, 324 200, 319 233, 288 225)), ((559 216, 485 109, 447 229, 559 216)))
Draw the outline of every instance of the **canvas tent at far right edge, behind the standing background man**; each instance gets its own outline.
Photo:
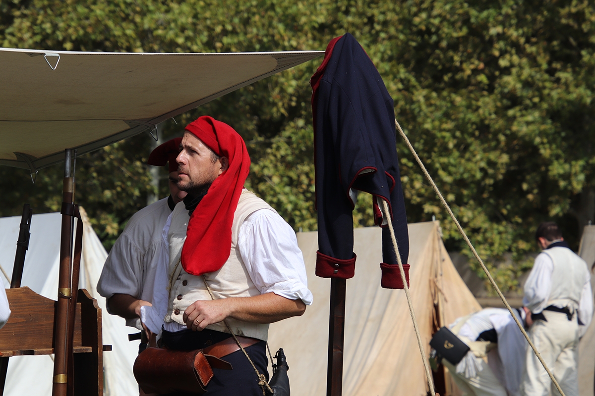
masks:
MULTIPOLYGON (((585 226, 578 255, 587 262, 587 267, 595 263, 595 226, 585 226)), ((595 290, 595 276, 591 271, 591 289, 595 290)), ((578 344, 578 391, 581 396, 593 396, 595 376, 595 321, 578 344)))

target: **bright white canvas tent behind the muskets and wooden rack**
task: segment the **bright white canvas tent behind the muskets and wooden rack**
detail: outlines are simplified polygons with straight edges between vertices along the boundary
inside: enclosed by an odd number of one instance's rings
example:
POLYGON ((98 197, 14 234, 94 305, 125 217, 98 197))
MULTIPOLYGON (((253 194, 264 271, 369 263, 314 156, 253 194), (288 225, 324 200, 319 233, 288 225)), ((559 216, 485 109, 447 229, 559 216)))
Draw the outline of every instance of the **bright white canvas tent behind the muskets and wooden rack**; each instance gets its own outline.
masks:
MULTIPOLYGON (((95 286, 101 275, 107 252, 93 232, 82 211, 84 233, 83 252, 80 265, 79 287, 87 289, 98 300, 103 313, 103 341, 112 345, 112 351, 105 351, 105 395, 129 396, 138 394, 138 385, 132 373, 132 364, 138 353, 138 341, 128 341, 128 334, 137 332, 126 327, 124 319, 109 315, 105 310, 105 299, 97 293, 95 286)), ((8 277, 17 248, 21 217, 0 218, 0 266, 8 277)), ((31 239, 25 259, 21 286, 28 286, 44 297, 56 300, 58 294, 58 266, 60 253, 60 213, 34 214, 31 220, 31 239)), ((4 286, 10 287, 4 275, 4 286)), ((32 329, 35 332, 35 329, 32 329)), ((53 355, 14 356, 8 363, 5 396, 51 395, 54 369, 53 355)))

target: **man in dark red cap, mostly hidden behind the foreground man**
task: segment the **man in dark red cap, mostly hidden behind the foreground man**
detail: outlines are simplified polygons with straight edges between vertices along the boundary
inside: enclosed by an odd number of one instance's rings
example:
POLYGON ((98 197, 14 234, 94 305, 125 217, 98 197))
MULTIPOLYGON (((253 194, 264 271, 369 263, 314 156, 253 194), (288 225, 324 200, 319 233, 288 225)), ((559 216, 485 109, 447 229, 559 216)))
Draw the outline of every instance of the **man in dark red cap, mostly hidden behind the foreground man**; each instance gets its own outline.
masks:
MULTIPOLYGON (((156 264, 164 256, 161 232, 171 211, 186 197, 176 184, 180 142, 181 138, 167 141, 149 155, 149 165, 165 166, 169 161, 170 196, 130 218, 109 252, 97 284, 97 291, 107 299, 108 312, 122 316, 126 325, 141 331, 140 307, 151 305, 156 264)), ((145 346, 141 344, 141 349, 145 346)))

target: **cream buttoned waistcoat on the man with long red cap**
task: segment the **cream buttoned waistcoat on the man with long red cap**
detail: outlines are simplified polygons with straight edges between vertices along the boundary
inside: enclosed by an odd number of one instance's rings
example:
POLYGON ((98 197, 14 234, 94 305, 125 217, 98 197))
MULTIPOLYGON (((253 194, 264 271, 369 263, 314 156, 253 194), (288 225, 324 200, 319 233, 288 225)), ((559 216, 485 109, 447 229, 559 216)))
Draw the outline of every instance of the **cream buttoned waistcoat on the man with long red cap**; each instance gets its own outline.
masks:
MULTIPOLYGON (((250 297, 261 294, 260 290, 252 283, 240 251, 237 248, 237 236, 242 223, 250 214, 260 209, 274 211, 267 202, 262 201, 262 199, 256 197, 252 192, 244 189, 237 203, 231 226, 230 256, 220 270, 204 275, 215 299, 250 297)), ((185 325, 182 316, 189 305, 197 300, 211 300, 203 277, 186 273, 180 263, 182 247, 184 240, 186 240, 188 220, 188 211, 184 207, 183 202, 180 202, 174 209, 171 217, 171 227, 168 233, 170 243, 170 303, 164 320, 165 322, 177 322, 181 325, 185 325)), ((208 254, 208 252, 205 252, 205 254, 208 254)), ((236 335, 267 340, 268 324, 242 322, 233 318, 227 318, 227 323, 236 335)), ((229 332, 223 322, 208 325, 206 328, 229 332)))

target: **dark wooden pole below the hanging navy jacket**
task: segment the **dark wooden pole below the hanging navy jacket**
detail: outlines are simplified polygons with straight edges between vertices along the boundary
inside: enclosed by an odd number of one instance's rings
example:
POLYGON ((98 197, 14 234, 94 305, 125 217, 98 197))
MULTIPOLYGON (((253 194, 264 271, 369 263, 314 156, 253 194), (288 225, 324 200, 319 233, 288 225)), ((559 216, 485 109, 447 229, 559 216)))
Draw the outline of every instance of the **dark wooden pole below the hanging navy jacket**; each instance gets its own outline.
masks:
POLYGON ((331 278, 331 303, 328 318, 327 396, 341 396, 343 392, 345 286, 345 279, 331 278))

